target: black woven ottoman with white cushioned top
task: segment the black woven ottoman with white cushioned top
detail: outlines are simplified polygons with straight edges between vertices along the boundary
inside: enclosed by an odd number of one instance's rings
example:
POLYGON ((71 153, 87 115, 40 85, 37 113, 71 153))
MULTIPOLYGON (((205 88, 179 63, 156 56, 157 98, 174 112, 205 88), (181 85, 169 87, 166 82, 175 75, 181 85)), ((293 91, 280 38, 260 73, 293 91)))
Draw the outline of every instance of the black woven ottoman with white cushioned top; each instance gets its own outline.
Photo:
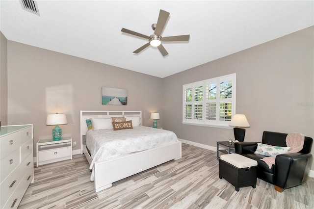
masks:
POLYGON ((239 191, 240 187, 256 187, 257 161, 239 154, 222 155, 219 159, 219 179, 235 186, 239 191))

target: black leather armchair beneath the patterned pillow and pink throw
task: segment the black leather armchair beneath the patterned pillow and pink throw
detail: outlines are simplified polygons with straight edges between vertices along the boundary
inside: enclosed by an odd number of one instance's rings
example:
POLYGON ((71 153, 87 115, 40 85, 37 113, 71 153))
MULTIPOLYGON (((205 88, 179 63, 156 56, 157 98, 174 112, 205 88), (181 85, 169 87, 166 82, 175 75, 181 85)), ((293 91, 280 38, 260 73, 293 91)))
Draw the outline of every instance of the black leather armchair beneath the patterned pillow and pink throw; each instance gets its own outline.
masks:
MULTIPOLYGON (((264 131, 262 143, 273 146, 287 147, 287 133, 264 131)), ((298 153, 287 153, 276 156, 275 164, 269 169, 268 165, 260 160, 265 156, 254 154, 257 142, 236 142, 235 153, 257 160, 257 178, 274 184, 279 192, 286 188, 300 185, 307 180, 312 166, 313 139, 305 136, 303 149, 298 153)))

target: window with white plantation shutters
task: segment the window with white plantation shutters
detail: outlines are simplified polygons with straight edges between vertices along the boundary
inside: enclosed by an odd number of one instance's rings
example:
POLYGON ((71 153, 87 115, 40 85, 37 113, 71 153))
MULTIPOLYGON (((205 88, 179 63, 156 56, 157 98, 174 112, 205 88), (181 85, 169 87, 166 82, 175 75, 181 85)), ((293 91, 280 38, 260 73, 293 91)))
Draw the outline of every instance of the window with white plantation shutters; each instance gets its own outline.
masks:
POLYGON ((229 127, 235 114, 235 74, 183 85, 183 124, 229 127))

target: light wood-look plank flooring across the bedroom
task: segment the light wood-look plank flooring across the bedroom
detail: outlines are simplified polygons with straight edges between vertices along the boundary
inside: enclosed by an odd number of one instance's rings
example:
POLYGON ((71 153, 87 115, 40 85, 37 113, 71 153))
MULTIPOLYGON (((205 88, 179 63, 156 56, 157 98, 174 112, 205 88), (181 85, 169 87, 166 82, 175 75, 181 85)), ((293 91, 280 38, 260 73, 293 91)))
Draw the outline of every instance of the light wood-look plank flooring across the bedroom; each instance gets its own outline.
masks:
POLYGON ((218 177, 216 152, 183 144, 171 160, 95 193, 84 155, 34 168, 20 209, 313 209, 314 179, 279 193, 258 179, 235 187, 218 177))

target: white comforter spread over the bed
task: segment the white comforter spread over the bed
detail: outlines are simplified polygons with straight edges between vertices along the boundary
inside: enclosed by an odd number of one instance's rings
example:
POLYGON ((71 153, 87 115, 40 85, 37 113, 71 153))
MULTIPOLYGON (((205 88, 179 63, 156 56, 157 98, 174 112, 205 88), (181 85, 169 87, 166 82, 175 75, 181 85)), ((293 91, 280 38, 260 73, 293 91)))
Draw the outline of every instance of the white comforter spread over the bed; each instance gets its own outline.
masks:
MULTIPOLYGON (((148 150, 172 141, 178 141, 174 132, 145 126, 118 131, 87 131, 86 146, 93 159, 89 169, 93 169, 97 161, 148 150)), ((94 170, 91 181, 94 181, 94 170)))

